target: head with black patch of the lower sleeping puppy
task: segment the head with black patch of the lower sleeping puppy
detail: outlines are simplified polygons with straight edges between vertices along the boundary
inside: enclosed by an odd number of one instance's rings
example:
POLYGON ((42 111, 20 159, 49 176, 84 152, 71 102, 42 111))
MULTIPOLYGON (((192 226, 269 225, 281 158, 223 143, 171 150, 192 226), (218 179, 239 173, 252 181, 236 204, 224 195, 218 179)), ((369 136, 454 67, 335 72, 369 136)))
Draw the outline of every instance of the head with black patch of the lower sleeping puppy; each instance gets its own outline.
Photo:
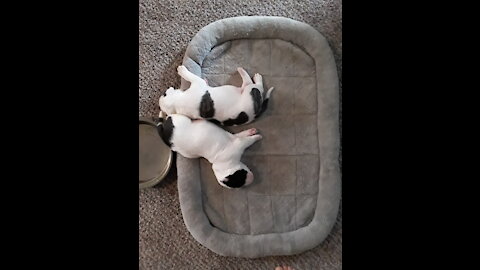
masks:
POLYGON ((216 164, 212 165, 218 183, 226 188, 240 188, 248 186, 253 182, 253 173, 243 163, 227 168, 222 167, 216 166, 216 164))

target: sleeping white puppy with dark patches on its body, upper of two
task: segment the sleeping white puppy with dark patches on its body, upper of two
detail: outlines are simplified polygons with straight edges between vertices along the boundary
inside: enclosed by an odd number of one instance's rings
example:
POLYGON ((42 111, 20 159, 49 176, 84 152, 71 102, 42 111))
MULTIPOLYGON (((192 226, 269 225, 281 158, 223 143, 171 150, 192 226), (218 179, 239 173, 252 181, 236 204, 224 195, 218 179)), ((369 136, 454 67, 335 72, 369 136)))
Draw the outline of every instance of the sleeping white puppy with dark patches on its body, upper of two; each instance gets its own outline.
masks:
POLYGON ((208 119, 225 126, 252 122, 267 109, 273 87, 264 99, 262 76, 255 74, 253 83, 243 68, 237 70, 243 80, 241 87, 210 87, 206 80, 191 73, 185 66, 179 66, 178 74, 191 83, 190 88, 185 91, 173 87, 167 89, 160 97, 160 109, 167 115, 183 114, 192 119, 208 119))

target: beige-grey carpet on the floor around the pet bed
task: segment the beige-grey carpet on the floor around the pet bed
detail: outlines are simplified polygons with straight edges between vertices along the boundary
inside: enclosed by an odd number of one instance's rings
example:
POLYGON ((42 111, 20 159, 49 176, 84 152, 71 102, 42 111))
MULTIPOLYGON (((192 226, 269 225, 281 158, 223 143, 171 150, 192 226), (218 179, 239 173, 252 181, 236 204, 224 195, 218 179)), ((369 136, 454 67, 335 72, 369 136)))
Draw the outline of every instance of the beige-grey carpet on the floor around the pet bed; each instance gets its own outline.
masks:
MULTIPOLYGON (((338 0, 162 1, 140 0, 140 116, 158 115, 158 98, 179 87, 176 67, 191 38, 203 26, 242 15, 284 16, 308 23, 322 33, 334 52, 342 78, 342 3, 338 0)), ((342 269, 342 207, 331 234, 318 247, 295 256, 260 259, 216 255, 193 239, 183 224, 176 170, 160 185, 141 190, 140 269, 342 269)))

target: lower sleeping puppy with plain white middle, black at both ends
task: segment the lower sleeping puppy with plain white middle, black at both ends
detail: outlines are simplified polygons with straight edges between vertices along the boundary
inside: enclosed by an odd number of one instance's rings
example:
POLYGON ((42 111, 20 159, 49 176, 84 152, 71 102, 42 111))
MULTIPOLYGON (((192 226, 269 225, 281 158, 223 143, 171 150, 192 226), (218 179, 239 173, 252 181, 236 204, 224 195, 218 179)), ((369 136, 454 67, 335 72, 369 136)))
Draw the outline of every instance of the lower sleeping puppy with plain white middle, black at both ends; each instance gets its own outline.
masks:
POLYGON ((240 159, 247 147, 262 139, 256 129, 231 134, 207 120, 180 114, 171 114, 162 122, 158 133, 163 141, 186 158, 207 159, 220 185, 239 188, 252 183, 253 173, 240 159))

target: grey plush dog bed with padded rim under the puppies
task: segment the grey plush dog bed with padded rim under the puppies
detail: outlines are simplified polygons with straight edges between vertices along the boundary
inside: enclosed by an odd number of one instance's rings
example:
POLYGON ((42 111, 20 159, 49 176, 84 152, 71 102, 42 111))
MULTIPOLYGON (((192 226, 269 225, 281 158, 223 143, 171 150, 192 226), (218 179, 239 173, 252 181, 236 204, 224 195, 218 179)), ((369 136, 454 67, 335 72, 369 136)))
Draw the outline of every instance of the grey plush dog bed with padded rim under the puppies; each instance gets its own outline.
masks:
POLYGON ((335 223, 341 186, 338 77, 325 38, 287 18, 227 18, 198 32, 183 64, 212 86, 240 86, 241 66, 262 74, 265 89, 275 87, 259 119, 228 128, 263 135, 243 156, 255 175, 250 186, 223 188, 206 160, 177 155, 180 205, 193 237, 220 255, 250 258, 320 244, 335 223))

